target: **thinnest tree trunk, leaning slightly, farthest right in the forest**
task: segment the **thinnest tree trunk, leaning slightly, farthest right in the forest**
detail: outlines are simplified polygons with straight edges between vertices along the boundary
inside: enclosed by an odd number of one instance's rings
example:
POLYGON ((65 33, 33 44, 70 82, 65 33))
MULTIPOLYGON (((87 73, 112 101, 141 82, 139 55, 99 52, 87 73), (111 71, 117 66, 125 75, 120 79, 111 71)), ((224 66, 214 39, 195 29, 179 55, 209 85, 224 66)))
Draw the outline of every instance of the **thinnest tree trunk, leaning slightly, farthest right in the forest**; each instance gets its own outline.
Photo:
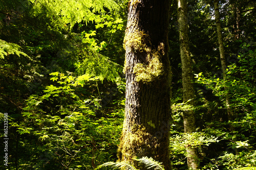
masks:
MULTIPOLYGON (((220 48, 221 68, 222 68, 222 74, 223 74, 223 81, 225 83, 227 64, 225 59, 223 38, 221 33, 220 10, 219 10, 218 0, 214 0, 214 10, 215 10, 215 20, 216 20, 216 27, 217 27, 217 36, 218 36, 218 42, 219 42, 219 48, 220 48)), ((225 85, 224 85, 224 89, 225 91, 227 90, 225 85)), ((225 100, 226 100, 228 120, 232 121, 234 119, 234 114, 229 106, 230 100, 227 92, 225 94, 225 100)), ((230 131, 234 131, 234 127, 231 124, 230 124, 230 131)))

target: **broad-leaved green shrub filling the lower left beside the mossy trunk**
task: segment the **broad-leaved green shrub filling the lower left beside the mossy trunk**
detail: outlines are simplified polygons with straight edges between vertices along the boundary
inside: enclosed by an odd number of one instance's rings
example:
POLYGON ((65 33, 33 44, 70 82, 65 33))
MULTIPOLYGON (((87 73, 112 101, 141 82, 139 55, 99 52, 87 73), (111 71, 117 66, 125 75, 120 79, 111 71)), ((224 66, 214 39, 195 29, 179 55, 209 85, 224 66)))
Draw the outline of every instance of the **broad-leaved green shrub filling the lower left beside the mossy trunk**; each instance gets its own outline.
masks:
MULTIPOLYGON (((98 99, 81 96, 80 92, 86 91, 83 86, 98 78, 89 75, 75 78, 59 72, 51 75, 51 80, 57 81, 58 85, 47 86, 42 96, 30 96, 25 112, 22 113, 24 124, 12 124, 20 135, 26 135, 26 139, 34 138, 39 144, 37 149, 45 150, 50 155, 46 160, 51 165, 45 164, 45 160, 40 158, 44 157, 42 155, 31 159, 37 162, 33 167, 91 168, 98 161, 108 160, 110 154, 117 149, 115 146, 121 131, 122 109, 98 117, 95 108, 98 99), (55 108, 51 109, 51 106, 55 108), (58 164, 59 161, 62 165, 58 164)), ((27 143, 33 145, 29 141, 27 143)))

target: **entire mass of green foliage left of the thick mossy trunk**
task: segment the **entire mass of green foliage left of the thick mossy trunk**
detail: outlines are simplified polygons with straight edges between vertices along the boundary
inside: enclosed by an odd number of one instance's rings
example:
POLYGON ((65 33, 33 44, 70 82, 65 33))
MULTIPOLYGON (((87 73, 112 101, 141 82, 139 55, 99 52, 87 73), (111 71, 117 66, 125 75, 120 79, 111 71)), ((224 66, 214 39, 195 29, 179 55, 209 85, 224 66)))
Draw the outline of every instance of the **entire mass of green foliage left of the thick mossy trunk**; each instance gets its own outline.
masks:
POLYGON ((111 0, 0 2, 9 168, 92 169, 116 159, 125 86, 118 9, 111 0))

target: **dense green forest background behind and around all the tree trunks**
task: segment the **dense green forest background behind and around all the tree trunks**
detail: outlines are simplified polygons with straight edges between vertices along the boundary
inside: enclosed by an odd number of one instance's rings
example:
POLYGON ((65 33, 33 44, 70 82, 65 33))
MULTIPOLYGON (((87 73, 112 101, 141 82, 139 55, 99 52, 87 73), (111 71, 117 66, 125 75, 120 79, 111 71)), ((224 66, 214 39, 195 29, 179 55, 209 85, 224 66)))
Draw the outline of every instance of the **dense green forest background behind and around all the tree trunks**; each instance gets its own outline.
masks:
MULTIPOLYGON (((198 149, 201 169, 256 166, 256 2, 219 3, 224 80, 214 5, 188 1, 197 126, 192 134, 183 133, 182 114, 191 106, 182 102, 176 1, 170 7, 174 169, 187 168, 188 146, 198 149)), ((0 1, 1 139, 7 113, 9 138, 8 166, 1 156, 1 169, 94 169, 117 160, 127 8, 126 0, 0 1)), ((0 146, 4 155, 5 143, 0 146)))

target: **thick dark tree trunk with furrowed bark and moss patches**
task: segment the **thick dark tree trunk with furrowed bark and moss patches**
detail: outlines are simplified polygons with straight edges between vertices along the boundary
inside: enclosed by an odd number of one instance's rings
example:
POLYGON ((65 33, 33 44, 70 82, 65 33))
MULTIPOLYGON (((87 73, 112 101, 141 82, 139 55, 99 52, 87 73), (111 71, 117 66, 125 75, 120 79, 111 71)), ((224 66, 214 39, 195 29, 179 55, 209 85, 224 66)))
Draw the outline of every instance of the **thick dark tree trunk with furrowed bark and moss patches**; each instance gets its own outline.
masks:
POLYGON ((118 157, 136 167, 133 158, 147 156, 171 169, 169 6, 169 0, 132 0, 129 5, 124 38, 125 118, 118 157))

